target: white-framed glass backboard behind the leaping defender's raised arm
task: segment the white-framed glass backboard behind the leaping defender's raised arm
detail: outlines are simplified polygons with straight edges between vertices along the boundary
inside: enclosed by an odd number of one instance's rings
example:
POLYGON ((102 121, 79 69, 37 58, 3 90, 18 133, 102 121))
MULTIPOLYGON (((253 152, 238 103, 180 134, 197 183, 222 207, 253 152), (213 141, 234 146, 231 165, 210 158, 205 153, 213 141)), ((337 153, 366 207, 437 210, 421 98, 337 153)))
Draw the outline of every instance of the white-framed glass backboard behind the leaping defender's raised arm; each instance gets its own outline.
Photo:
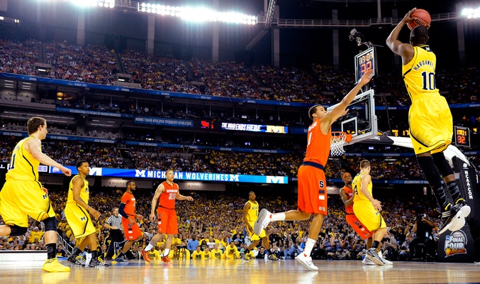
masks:
MULTIPOLYGON (((328 107, 327 110, 330 111, 333 107, 335 106, 328 107)), ((345 144, 350 145, 377 135, 378 124, 373 89, 357 94, 347 109, 349 109, 348 113, 332 125, 332 131, 352 134, 352 141, 345 144)))

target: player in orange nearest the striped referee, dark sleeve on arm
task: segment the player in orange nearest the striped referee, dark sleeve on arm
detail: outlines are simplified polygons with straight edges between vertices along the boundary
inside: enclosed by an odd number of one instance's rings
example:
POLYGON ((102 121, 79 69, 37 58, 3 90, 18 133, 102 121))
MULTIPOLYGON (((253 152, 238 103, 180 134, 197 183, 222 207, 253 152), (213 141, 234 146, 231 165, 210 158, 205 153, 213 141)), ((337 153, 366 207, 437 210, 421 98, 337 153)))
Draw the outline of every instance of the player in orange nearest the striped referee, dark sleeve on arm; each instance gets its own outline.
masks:
POLYGON ((125 253, 130 249, 130 246, 135 241, 142 239, 143 233, 140 231, 140 227, 137 224, 136 219, 143 219, 142 215, 135 214, 135 197, 133 192, 137 189, 135 182, 130 180, 127 182, 127 191, 122 196, 122 203, 118 207, 118 213, 122 215, 123 233, 127 242, 123 245, 121 253, 115 258, 116 262, 127 262, 125 253))

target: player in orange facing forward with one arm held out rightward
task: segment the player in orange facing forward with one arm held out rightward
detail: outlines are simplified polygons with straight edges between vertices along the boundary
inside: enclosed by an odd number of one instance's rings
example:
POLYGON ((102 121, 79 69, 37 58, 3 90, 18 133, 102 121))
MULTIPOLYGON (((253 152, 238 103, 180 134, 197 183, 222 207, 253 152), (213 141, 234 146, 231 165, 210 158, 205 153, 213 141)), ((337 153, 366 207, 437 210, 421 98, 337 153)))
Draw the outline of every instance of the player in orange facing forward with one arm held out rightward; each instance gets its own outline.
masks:
POLYGON ((164 234, 167 234, 167 242, 165 243, 165 251, 162 257, 164 263, 172 263, 168 253, 172 247, 173 236, 179 233, 177 224, 177 213, 175 212, 175 200, 189 200, 194 201, 191 196, 181 195, 179 192, 179 185, 173 182, 174 171, 167 170, 165 173, 165 180, 155 190, 155 195, 152 198, 152 212, 150 213, 150 222, 155 222, 157 217, 158 222, 158 234, 152 237, 150 244, 142 251, 142 256, 145 261, 150 262, 148 251, 152 249, 158 241, 164 238, 164 234), (160 197, 158 203, 157 215, 155 215, 155 207, 157 207, 157 200, 160 197))

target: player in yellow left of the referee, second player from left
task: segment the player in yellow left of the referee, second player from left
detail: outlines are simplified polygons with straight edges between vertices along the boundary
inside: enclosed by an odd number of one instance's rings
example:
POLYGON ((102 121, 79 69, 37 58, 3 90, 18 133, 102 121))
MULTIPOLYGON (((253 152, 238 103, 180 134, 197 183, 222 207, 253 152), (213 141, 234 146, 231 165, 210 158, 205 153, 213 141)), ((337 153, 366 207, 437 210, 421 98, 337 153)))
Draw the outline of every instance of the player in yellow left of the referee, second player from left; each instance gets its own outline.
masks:
POLYGON ((75 175, 70 180, 68 189, 67 205, 65 205, 65 218, 72 228, 76 239, 82 239, 78 247, 75 247, 72 256, 69 256, 67 261, 75 265, 82 265, 77 261, 77 256, 86 249, 85 264, 82 266, 90 267, 104 267, 108 264, 98 259, 98 246, 96 238, 96 229, 94 223, 91 221, 91 216, 94 219, 99 219, 100 212, 89 206, 89 181, 86 176, 90 173, 90 165, 86 160, 81 160, 77 163, 78 175, 75 175))

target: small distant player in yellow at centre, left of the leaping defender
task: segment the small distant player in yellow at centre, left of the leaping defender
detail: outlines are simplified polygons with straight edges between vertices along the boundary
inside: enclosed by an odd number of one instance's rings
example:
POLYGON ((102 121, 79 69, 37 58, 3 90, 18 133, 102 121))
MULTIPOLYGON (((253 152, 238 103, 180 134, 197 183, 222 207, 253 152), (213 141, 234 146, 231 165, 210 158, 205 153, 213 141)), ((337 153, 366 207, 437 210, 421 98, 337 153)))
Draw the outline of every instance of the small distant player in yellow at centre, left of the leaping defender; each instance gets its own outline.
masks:
POLYGON ((247 225, 247 231, 248 234, 250 234, 250 240, 252 241, 252 244, 250 244, 250 246, 248 246, 245 251, 242 251, 242 253, 240 253, 240 258, 242 258, 242 260, 244 261, 247 261, 245 254, 249 253, 250 250, 255 248, 255 246, 258 246, 258 244, 260 243, 260 238, 262 238, 262 246, 264 246, 264 248, 267 250, 267 253, 269 253, 268 258, 272 261, 279 261, 279 258, 277 258, 277 256, 275 256, 270 251, 270 242, 267 233, 265 233, 265 229, 262 229, 262 233, 260 233, 259 236, 257 236, 253 232, 253 226, 258 219, 259 207, 258 202, 257 200, 255 200, 255 198, 257 198, 255 192, 248 192, 248 201, 243 207, 243 222, 245 222, 245 225, 247 225))

